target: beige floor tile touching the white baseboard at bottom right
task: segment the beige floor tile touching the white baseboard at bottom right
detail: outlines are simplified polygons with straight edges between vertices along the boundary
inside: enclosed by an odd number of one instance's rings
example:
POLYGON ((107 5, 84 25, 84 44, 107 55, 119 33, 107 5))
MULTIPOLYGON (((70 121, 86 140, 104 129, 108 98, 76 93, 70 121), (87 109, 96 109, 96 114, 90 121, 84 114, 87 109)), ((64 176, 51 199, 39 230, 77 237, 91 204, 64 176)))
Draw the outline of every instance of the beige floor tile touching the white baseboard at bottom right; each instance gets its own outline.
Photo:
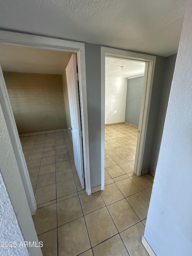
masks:
POLYGON ((141 243, 141 237, 144 233, 145 226, 142 222, 123 231, 120 236, 128 249, 130 256, 149 256, 146 249, 141 243))

